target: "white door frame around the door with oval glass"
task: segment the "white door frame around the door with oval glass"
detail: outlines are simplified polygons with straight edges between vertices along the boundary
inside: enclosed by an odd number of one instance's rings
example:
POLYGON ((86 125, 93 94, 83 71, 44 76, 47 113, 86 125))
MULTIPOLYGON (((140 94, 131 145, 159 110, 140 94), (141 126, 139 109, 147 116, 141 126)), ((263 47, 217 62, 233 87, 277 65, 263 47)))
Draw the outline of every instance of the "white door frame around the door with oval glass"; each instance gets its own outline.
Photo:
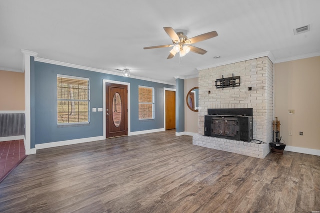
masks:
POLYGON ((122 81, 112 81, 112 80, 108 80, 108 79, 103 79, 103 138, 106 137, 106 132, 105 132, 105 83, 113 83, 113 84, 121 84, 121 85, 127 85, 127 89, 128 89, 128 94, 127 94, 127 107, 128 107, 128 112, 127 112, 127 128, 128 128, 128 136, 131 135, 131 128, 130 128, 130 83, 128 82, 122 82, 122 81))

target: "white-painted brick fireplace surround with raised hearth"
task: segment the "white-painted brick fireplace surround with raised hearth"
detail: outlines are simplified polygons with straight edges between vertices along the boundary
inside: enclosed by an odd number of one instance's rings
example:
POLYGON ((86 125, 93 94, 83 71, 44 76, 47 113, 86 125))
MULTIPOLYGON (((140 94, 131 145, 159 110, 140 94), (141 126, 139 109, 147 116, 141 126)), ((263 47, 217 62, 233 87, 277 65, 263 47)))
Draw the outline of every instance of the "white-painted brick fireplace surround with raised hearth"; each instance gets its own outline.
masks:
POLYGON ((273 63, 265 57, 199 70, 198 134, 194 145, 256 158, 264 158, 270 151, 273 120, 273 63), (216 79, 240 76, 240 86, 215 88, 216 79), (251 88, 251 90, 249 90, 251 88), (252 108, 253 139, 266 144, 204 136, 204 115, 208 108, 252 108))

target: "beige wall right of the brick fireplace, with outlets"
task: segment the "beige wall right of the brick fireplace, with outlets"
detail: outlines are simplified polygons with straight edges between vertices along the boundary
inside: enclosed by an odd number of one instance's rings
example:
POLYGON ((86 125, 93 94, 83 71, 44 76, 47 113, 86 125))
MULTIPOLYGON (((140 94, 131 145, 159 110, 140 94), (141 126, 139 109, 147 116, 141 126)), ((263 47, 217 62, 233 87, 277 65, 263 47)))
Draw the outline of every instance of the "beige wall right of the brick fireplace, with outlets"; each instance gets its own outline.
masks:
POLYGON ((289 146, 320 150, 319 80, 320 56, 274 64, 274 116, 289 146))

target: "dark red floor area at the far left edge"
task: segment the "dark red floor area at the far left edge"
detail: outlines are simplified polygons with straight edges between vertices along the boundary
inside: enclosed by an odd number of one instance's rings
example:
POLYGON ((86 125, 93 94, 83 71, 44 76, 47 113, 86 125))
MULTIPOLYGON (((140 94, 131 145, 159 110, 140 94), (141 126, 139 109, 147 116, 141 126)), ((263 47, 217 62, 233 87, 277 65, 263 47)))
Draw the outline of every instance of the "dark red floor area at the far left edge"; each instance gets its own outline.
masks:
POLYGON ((23 140, 0 142, 0 182, 26 157, 23 140))

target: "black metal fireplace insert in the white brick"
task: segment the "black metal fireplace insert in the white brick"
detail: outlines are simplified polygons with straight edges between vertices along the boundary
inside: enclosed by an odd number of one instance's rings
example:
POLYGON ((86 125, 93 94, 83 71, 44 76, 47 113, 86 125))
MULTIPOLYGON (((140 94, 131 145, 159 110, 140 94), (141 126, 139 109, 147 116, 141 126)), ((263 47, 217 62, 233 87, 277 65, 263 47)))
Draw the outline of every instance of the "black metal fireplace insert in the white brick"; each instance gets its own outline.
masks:
POLYGON ((204 116, 205 136, 249 142, 252 134, 252 109, 208 109, 204 116))

